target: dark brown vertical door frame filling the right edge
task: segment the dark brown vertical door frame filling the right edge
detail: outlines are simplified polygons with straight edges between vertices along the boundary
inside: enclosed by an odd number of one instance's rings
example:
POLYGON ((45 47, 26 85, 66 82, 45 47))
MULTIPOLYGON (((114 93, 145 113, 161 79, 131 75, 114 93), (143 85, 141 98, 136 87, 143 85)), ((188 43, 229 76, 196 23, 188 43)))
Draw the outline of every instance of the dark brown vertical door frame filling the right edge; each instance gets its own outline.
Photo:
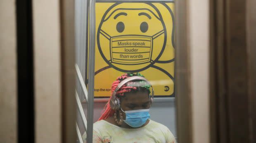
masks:
POLYGON ((253 0, 210 2, 211 143, 255 143, 256 11, 253 0))

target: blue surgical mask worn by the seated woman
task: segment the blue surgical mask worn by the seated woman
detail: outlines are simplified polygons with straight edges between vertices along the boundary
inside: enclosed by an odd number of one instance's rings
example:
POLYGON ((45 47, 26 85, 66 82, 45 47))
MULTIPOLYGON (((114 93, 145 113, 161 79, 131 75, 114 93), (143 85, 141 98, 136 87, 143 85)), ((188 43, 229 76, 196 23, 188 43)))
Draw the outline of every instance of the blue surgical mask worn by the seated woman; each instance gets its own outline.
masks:
MULTIPOLYGON (((123 109, 121 108, 123 111, 123 109)), ((123 120, 131 127, 141 127, 147 122, 149 119, 149 109, 140 109, 140 110, 131 110, 131 111, 123 111, 126 113, 126 120, 123 120)))

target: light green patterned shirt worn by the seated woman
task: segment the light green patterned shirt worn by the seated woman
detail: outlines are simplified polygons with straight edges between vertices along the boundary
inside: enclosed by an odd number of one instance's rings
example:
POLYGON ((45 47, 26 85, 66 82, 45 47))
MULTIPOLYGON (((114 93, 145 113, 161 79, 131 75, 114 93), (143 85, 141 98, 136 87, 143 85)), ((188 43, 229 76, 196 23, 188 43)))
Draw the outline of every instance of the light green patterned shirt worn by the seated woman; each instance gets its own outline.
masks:
MULTIPOLYGON (((86 134, 83 135, 86 141, 86 134)), ((171 131, 164 125, 149 120, 144 127, 126 129, 105 120, 93 124, 93 143, 176 143, 171 131)))

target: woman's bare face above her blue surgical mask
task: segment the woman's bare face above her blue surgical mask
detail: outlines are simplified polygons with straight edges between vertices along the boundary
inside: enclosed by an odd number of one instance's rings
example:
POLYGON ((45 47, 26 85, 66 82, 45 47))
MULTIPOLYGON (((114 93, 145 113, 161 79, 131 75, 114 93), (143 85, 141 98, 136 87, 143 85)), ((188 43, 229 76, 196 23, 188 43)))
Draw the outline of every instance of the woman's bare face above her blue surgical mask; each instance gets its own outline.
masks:
MULTIPOLYGON (((121 108, 123 111, 148 109, 150 107, 149 95, 147 92, 128 92, 121 99, 121 108)), ((123 115, 126 119, 126 116, 123 115)))

